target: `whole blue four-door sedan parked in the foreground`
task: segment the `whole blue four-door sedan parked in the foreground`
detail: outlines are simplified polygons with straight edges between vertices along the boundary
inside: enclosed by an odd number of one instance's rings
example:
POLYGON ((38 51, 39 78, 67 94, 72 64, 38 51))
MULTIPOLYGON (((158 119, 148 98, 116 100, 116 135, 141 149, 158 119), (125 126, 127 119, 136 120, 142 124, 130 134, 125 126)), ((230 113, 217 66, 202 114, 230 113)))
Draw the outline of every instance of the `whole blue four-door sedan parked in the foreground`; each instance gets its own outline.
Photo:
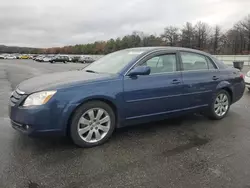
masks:
POLYGON ((70 135, 92 147, 115 128, 189 112, 224 118, 245 90, 243 75, 210 54, 173 47, 111 53, 82 70, 42 75, 10 97, 12 126, 28 135, 70 135))

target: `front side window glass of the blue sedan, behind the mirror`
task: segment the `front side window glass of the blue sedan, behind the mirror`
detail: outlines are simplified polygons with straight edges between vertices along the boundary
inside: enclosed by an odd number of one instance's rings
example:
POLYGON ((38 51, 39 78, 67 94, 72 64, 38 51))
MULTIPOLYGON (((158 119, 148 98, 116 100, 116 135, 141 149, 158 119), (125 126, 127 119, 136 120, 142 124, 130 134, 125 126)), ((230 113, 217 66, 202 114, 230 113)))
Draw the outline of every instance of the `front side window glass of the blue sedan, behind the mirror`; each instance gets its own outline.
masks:
POLYGON ((151 69, 150 74, 167 73, 176 71, 176 55, 175 54, 164 54, 157 55, 150 58, 140 66, 149 66, 151 69))

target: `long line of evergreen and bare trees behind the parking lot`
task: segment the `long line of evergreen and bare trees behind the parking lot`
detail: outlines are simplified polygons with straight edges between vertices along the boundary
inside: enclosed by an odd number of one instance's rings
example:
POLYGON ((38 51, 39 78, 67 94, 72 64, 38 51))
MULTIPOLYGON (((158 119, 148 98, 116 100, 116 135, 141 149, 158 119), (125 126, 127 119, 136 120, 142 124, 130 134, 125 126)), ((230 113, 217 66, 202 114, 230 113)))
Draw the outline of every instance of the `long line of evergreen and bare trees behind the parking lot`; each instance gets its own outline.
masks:
MULTIPOLYGON (((117 50, 144 46, 178 46, 203 50, 212 54, 250 54, 250 14, 223 31, 220 26, 187 22, 183 27, 167 26, 162 34, 134 31, 122 38, 96 41, 89 44, 29 49, 30 53, 48 54, 108 54, 117 50)), ((1 50, 0 50, 1 51, 1 50)))

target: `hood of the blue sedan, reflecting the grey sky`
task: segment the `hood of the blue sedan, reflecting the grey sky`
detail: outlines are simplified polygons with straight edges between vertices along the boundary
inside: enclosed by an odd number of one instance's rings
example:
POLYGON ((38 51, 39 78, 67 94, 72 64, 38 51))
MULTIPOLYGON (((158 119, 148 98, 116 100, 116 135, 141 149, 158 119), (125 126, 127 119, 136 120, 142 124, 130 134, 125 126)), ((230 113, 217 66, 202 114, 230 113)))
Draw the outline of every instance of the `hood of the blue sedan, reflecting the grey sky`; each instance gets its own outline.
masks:
POLYGON ((83 70, 44 74, 23 81, 18 89, 29 94, 42 90, 70 87, 72 84, 112 79, 114 75, 89 73, 83 70))

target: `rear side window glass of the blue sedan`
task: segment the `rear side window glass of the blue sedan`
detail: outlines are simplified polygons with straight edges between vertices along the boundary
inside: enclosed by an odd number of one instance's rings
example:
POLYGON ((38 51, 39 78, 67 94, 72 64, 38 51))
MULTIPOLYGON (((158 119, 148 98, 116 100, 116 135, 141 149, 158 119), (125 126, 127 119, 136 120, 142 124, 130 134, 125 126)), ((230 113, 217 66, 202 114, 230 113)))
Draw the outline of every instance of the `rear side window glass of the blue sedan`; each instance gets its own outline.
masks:
POLYGON ((214 63, 204 55, 181 52, 183 70, 211 70, 216 69, 214 63))

